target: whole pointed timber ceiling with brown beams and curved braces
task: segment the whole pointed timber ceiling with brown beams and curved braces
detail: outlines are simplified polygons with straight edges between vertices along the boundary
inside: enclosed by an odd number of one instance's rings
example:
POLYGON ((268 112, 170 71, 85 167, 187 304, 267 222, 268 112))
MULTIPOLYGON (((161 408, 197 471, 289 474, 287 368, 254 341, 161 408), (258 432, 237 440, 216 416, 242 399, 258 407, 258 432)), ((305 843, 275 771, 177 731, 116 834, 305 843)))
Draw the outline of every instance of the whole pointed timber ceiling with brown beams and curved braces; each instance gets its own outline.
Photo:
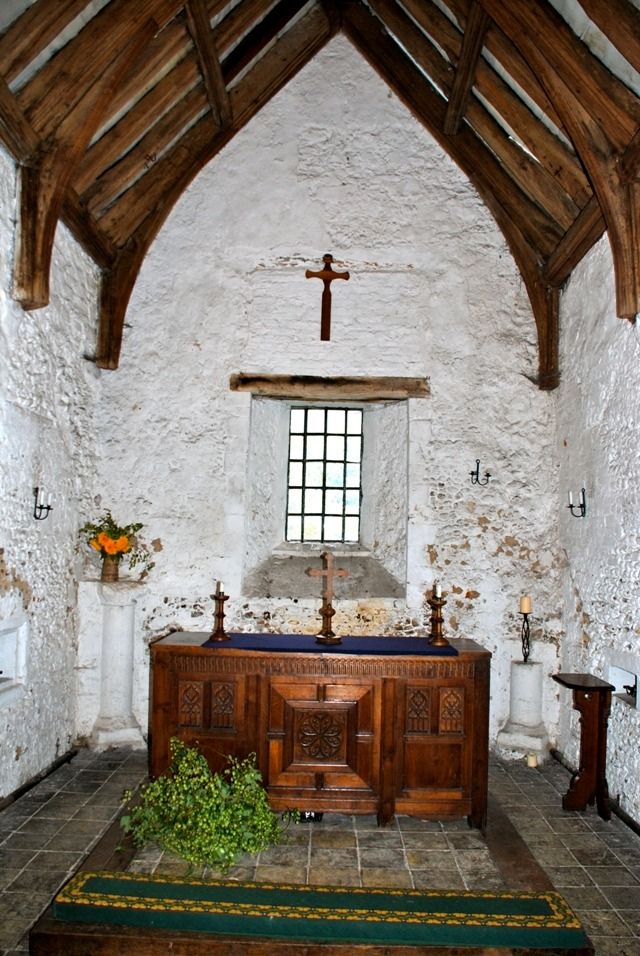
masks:
POLYGON ((0 139, 20 168, 14 296, 25 309, 47 304, 63 220, 102 270, 103 368, 118 365, 138 271, 180 194, 340 31, 493 214, 531 300, 541 388, 558 383, 559 290, 605 230, 618 315, 640 311, 640 12, 630 0, 11 7, 0 139))

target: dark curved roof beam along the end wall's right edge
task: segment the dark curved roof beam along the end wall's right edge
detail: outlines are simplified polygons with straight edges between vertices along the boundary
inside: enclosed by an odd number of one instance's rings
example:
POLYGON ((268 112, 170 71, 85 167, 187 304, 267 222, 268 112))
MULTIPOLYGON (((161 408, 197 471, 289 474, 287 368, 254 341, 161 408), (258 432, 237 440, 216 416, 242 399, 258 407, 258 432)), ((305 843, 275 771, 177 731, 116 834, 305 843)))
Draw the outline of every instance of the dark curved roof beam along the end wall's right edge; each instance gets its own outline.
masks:
POLYGON ((506 176, 486 147, 468 127, 456 137, 446 136, 442 126, 445 108, 435 92, 419 81, 416 67, 386 34, 379 21, 359 3, 350 3, 344 13, 347 36, 386 80, 417 119, 466 173, 493 214, 523 277, 538 333, 539 388, 555 388, 558 372, 558 296, 541 274, 543 257, 517 222, 527 223, 532 208, 506 176))

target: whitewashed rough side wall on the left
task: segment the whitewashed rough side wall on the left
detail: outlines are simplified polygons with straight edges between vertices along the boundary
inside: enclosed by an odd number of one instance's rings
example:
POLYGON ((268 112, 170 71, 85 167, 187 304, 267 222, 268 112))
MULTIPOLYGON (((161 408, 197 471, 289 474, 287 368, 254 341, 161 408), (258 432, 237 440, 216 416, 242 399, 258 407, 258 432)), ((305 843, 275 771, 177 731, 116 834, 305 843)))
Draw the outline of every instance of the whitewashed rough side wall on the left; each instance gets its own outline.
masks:
POLYGON ((51 304, 24 312, 11 298, 16 172, 0 151, 0 628, 27 625, 27 680, 18 701, 0 692, 0 797, 74 740, 78 497, 96 460, 93 365, 95 268, 61 228, 51 304), (53 495, 33 517, 33 488, 53 495))

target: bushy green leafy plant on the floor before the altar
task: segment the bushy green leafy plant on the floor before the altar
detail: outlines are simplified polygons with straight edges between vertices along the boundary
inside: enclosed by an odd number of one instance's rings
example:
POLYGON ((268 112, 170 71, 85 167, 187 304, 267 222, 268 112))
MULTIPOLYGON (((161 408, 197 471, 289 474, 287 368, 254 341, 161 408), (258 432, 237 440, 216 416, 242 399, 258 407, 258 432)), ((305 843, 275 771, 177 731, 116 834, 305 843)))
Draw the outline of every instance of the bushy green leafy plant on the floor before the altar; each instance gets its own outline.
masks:
POLYGON ((140 791, 125 793, 128 813, 120 825, 135 846, 157 843, 184 860, 227 870, 241 853, 258 853, 282 842, 283 823, 269 807, 256 755, 227 757, 212 773, 197 747, 177 737, 169 743, 166 773, 140 791))

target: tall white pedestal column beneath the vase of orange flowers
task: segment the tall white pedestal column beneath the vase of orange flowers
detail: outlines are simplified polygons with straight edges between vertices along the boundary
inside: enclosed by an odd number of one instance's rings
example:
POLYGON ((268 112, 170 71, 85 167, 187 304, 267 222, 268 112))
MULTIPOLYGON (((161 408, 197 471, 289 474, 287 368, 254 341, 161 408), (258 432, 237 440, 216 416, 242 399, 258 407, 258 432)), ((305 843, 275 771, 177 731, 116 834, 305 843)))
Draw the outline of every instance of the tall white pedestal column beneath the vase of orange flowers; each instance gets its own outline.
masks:
POLYGON ((92 743, 98 749, 146 747, 132 707, 134 592, 121 582, 98 584, 97 593, 102 605, 100 711, 93 725, 92 743))

